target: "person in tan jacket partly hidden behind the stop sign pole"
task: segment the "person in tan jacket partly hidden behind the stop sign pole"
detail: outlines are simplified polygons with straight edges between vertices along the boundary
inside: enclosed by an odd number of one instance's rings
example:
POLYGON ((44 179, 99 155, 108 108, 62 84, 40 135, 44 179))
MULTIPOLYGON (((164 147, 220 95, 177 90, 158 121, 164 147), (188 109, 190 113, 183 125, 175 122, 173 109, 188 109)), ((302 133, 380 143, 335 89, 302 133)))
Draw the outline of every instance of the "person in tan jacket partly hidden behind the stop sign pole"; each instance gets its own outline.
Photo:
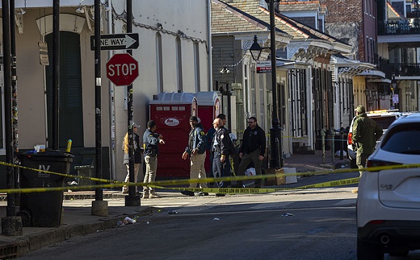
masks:
MULTIPOLYGON (((137 134, 137 131, 139 130, 140 126, 137 125, 137 123, 132 122, 131 124, 133 128, 133 148, 134 148, 134 182, 137 182, 137 177, 139 176, 139 169, 141 165, 141 153, 143 152, 143 149, 141 148, 141 142, 140 137, 137 134)), ((124 161, 123 163, 127 167, 127 176, 125 176, 124 182, 130 182, 130 166, 129 166, 129 149, 128 149, 128 132, 124 136, 123 141, 123 150, 124 150, 124 161)), ((143 179, 143 177, 141 177, 143 179)), ((137 186, 136 186, 137 188, 137 186)), ((123 186, 123 193, 128 193, 128 186, 123 186)))

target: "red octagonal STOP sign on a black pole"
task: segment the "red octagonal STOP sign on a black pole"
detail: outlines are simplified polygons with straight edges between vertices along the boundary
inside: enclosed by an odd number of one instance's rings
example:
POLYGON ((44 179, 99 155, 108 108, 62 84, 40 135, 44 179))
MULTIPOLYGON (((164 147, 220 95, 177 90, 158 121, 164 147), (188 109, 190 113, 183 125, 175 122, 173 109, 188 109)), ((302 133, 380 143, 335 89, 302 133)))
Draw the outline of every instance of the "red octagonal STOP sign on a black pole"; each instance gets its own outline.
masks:
POLYGON ((116 85, 130 85, 139 76, 139 63, 128 53, 114 54, 106 62, 106 76, 116 85))

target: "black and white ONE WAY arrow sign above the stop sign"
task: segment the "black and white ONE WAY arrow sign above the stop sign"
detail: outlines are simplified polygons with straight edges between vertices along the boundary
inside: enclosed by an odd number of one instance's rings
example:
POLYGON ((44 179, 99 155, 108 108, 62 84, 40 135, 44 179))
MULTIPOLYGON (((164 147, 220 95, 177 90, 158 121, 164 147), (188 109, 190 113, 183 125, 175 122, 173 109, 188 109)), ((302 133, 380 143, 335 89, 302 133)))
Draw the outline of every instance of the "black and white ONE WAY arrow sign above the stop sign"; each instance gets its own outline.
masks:
MULTIPOLYGON (((139 34, 103 34, 101 50, 126 50, 139 48, 139 34)), ((94 35, 90 36, 90 50, 94 50, 94 35)))

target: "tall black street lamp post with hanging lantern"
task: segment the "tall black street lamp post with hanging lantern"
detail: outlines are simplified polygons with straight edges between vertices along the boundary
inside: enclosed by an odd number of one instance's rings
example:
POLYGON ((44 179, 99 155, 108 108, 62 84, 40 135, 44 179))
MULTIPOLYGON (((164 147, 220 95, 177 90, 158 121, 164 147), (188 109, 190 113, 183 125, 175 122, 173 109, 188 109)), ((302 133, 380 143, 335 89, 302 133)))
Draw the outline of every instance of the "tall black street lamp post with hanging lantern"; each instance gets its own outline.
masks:
MULTIPOLYGON (((265 0, 269 3, 269 32, 270 32, 270 52, 272 63, 272 128, 269 129, 270 159, 269 168, 283 167, 283 151, 281 149, 281 128, 278 113, 278 96, 276 84, 276 24, 274 21, 274 0, 265 0)), ((258 44, 257 36, 254 36, 254 42, 249 48, 253 60, 258 60, 262 48, 258 44)))

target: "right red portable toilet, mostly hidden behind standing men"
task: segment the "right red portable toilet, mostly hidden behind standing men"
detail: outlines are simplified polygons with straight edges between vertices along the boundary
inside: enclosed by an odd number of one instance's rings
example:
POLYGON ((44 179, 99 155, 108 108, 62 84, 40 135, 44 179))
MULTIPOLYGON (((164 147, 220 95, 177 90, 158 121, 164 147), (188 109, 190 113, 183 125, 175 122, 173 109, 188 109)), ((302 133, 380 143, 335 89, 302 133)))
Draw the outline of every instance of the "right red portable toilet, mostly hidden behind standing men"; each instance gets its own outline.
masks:
MULTIPOLYGON (((198 118, 204 126, 204 131, 208 132, 210 128, 213 128, 213 121, 218 114, 220 114, 221 106, 218 95, 214 91, 202 91, 194 94, 197 98, 198 103, 198 118)), ((213 174, 210 172, 210 154, 206 152, 206 160, 204 167, 206 168, 207 177, 212 177, 213 174), (209 175, 210 173, 210 175, 209 175)))

